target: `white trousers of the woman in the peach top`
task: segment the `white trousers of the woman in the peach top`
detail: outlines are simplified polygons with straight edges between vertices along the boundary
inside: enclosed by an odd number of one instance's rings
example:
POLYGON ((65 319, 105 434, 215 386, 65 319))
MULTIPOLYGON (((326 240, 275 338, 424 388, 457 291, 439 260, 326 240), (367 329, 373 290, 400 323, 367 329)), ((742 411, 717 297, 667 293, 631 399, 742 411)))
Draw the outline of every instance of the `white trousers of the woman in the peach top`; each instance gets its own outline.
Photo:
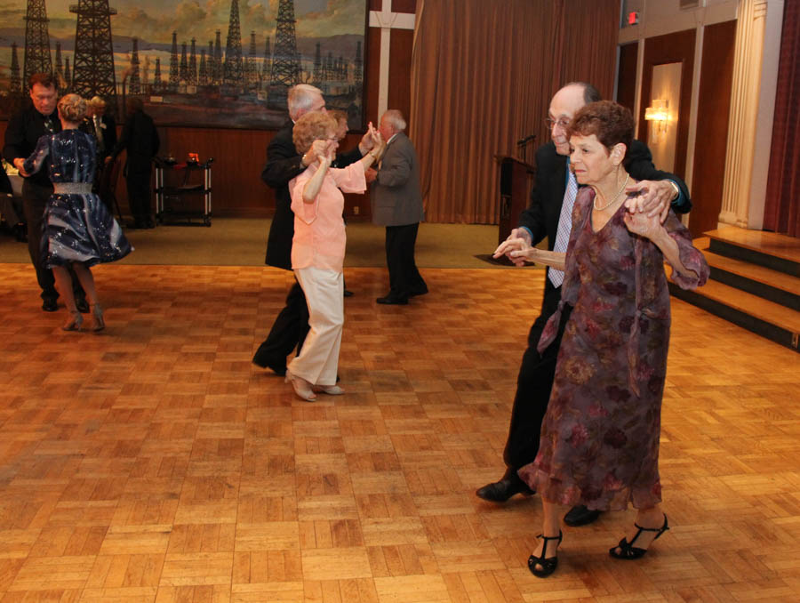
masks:
POLYGON ((300 356, 287 368, 314 385, 336 385, 344 326, 344 277, 321 268, 295 269, 308 303, 308 332, 300 356))

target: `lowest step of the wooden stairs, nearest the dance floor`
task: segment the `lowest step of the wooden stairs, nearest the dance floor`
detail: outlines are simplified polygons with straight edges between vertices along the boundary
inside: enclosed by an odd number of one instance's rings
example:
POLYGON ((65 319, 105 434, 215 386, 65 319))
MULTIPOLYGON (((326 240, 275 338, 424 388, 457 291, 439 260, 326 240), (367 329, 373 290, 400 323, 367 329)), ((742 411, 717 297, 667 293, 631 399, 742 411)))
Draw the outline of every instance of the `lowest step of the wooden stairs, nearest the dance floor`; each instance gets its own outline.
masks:
POLYGON ((696 291, 684 291, 670 280, 669 291, 734 325, 800 351, 800 312, 796 310, 714 280, 696 291))

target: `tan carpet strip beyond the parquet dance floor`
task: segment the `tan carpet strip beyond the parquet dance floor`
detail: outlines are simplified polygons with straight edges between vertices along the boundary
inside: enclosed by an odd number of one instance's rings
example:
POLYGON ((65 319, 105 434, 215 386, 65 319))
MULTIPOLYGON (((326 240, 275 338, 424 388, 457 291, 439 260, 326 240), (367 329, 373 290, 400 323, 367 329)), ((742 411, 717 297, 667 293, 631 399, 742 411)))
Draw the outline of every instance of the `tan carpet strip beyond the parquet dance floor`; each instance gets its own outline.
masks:
MULTIPOLYGON (((268 219, 214 218, 212 226, 159 226, 126 230, 135 251, 124 264, 262 266, 267 248, 268 219)), ((420 224, 417 265, 420 268, 501 268, 476 258, 497 246, 497 226, 420 224)), ((370 222, 348 223, 345 266, 386 265, 385 230, 370 222)), ((28 263, 28 245, 7 233, 0 235, 0 262, 28 263)))

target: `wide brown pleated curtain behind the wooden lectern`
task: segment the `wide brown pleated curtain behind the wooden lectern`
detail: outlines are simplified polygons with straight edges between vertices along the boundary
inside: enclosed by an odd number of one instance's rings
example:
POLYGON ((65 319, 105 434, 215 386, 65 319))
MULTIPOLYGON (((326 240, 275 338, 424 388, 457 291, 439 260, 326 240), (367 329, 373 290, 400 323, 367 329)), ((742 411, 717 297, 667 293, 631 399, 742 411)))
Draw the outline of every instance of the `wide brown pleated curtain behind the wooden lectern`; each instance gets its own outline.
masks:
POLYGON ((494 156, 531 133, 548 141, 550 97, 568 82, 611 98, 619 22, 619 0, 418 0, 409 135, 427 221, 498 222, 494 156))

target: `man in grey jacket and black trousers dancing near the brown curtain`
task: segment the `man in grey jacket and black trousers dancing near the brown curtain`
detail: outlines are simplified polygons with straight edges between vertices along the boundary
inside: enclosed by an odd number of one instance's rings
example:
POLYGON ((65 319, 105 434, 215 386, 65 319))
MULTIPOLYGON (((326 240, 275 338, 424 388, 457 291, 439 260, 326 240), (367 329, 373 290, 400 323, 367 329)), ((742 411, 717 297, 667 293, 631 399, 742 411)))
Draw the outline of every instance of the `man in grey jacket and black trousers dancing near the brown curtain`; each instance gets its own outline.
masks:
POLYGON ((386 227, 386 263, 389 292, 378 303, 408 303, 408 298, 428 293, 428 285, 414 261, 414 245, 422 210, 420 164, 405 135, 405 119, 396 109, 380 117, 380 134, 387 141, 378 173, 370 189, 372 223, 386 227))

